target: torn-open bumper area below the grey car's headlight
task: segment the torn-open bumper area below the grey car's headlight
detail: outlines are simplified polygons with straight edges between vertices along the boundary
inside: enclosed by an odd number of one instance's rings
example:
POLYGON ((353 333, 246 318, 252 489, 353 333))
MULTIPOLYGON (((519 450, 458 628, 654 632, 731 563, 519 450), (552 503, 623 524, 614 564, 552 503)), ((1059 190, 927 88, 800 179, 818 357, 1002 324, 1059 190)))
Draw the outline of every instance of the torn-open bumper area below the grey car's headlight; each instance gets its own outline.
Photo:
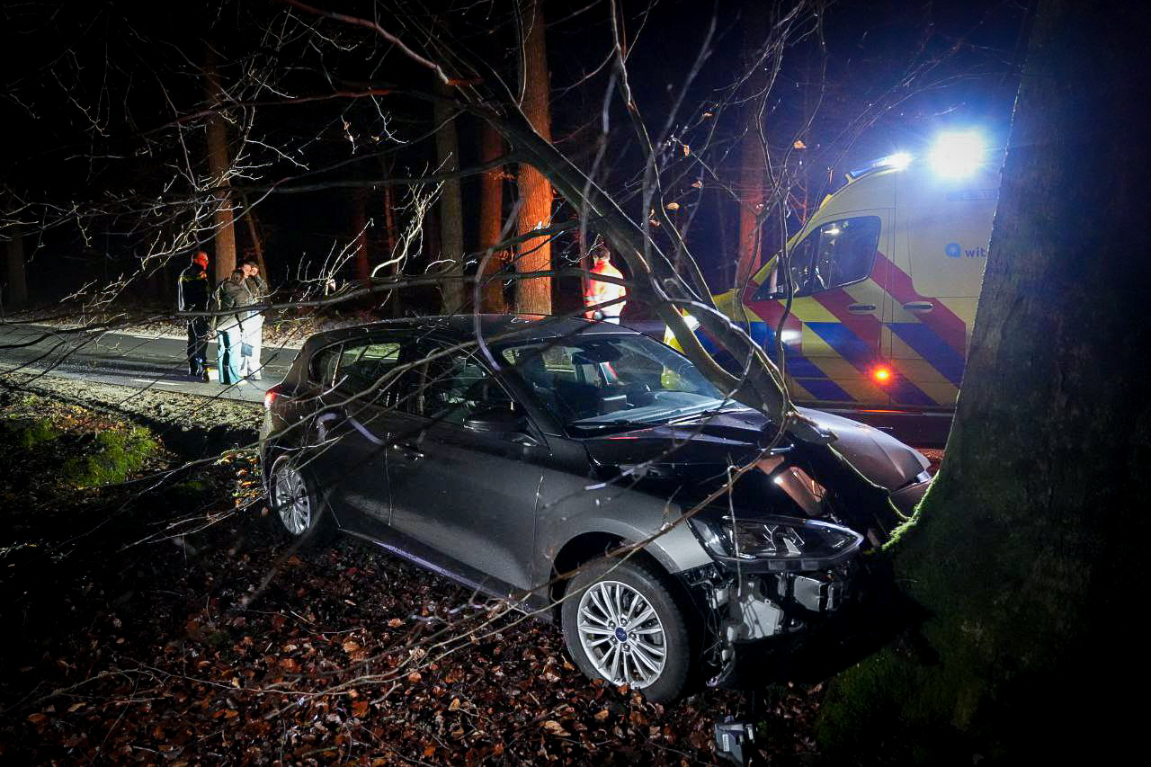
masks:
POLYGON ((852 560, 815 572, 737 575, 707 565, 681 574, 707 624, 708 685, 749 689, 825 661, 813 648, 838 641, 859 569, 852 560))

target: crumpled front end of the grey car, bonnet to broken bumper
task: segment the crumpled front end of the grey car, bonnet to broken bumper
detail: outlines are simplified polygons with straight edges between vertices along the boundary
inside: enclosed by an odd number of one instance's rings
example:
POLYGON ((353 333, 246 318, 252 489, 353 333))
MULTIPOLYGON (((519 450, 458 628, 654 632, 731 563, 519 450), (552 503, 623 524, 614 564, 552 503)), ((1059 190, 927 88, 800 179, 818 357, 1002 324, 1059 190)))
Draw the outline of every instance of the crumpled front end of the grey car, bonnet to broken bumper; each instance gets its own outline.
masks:
MULTIPOLYGON (((742 413, 679 424, 694 433, 663 436, 686 442, 686 455, 680 448, 645 466, 639 485, 695 509, 687 526, 711 560, 677 574, 702 623, 710 685, 780 679, 796 673, 809 648, 841 646, 866 614, 868 592, 884 580, 874 553, 927 489, 917 451, 871 427, 832 422, 822 424, 836 438, 828 445, 790 435, 775 445, 762 422, 759 439, 747 439, 740 426, 754 422, 742 413)), ((612 447, 646 436, 617 438, 612 447)), ((647 456, 628 453, 626 464, 601 468, 632 469, 634 478, 647 456)))

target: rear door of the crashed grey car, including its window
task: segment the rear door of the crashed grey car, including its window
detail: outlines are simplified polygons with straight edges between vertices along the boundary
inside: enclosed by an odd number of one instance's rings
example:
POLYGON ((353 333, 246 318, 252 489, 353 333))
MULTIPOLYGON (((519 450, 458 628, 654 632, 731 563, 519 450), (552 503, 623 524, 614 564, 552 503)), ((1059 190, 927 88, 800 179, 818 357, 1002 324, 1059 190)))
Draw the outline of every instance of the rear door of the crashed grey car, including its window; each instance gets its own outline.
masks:
POLYGON ((403 331, 345 341, 325 372, 313 423, 314 461, 340 524, 353 531, 379 533, 390 521, 388 445, 403 420, 397 403, 405 385, 397 369, 412 344, 403 331))

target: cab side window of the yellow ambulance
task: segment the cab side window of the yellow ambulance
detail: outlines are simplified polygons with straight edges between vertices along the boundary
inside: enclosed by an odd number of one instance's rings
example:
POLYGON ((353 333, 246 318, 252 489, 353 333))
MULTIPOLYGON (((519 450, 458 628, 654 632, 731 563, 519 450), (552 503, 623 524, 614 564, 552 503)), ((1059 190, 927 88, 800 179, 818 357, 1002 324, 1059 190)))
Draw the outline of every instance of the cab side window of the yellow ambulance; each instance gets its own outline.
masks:
MULTIPOLYGON (((793 296, 802 298, 867 278, 879 249, 879 229, 877 215, 861 215, 820 225, 788 255, 793 296)), ((778 268, 775 268, 752 299, 786 298, 784 290, 784 280, 780 279, 778 268)))

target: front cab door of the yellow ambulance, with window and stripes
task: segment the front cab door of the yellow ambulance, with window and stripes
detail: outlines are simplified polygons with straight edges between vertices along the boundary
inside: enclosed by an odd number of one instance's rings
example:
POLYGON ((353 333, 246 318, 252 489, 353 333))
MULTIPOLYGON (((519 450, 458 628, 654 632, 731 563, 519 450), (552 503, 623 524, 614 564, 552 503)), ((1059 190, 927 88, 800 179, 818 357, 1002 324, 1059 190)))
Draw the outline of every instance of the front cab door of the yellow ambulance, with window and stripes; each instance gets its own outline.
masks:
MULTIPOLYGON (((816 223, 790 255, 792 306, 783 329, 792 397, 820 405, 885 408, 876 384, 887 279, 891 208, 836 213, 816 223)), ((764 345, 775 358, 775 328, 786 281, 763 280, 749 307, 765 320, 764 345)))

